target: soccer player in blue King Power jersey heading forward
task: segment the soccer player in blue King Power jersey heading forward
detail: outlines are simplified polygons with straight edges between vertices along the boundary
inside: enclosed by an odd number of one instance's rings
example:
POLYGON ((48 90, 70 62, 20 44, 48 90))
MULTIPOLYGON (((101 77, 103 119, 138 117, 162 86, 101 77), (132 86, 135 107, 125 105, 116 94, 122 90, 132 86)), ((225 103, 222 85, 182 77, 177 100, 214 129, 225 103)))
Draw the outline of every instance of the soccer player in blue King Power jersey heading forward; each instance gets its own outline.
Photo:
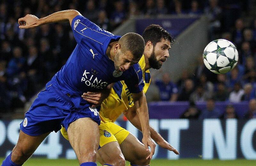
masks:
POLYGON ((59 131, 61 125, 67 130, 80 165, 95 166, 100 108, 91 107, 92 103, 83 100, 81 95, 84 91, 105 90, 109 84, 120 80, 124 80, 133 95, 143 132, 142 143, 147 151, 150 146, 147 158, 151 159, 156 145, 150 137, 142 70, 137 63, 144 51, 143 38, 136 33, 115 36, 75 10, 59 11, 40 19, 28 14, 18 21, 19 28, 23 29, 68 21, 77 46, 25 113, 18 143, 2 166, 22 165, 45 137, 52 131, 59 131))

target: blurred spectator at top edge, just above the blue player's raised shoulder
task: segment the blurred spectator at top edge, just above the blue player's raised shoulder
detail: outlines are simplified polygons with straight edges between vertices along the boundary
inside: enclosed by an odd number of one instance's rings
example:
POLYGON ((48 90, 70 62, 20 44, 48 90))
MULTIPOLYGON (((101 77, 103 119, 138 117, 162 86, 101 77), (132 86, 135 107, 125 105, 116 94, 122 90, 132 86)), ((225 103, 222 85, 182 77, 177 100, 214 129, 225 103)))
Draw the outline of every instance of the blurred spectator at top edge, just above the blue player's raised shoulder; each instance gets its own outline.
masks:
POLYGON ((84 17, 88 18, 92 22, 95 22, 98 18, 98 10, 95 6, 94 0, 88 0, 86 3, 86 10, 83 13, 84 17))

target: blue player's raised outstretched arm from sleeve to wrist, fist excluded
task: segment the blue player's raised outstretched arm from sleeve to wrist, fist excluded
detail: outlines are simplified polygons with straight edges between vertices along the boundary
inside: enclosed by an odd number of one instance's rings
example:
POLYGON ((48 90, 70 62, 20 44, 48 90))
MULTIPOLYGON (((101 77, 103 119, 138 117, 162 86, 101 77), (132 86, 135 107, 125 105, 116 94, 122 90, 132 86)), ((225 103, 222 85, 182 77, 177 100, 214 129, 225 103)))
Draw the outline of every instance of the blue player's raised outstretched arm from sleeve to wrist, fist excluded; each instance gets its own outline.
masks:
POLYGON ((75 18, 77 15, 81 15, 81 14, 76 10, 58 11, 44 18, 40 18, 37 21, 37 25, 39 26, 39 25, 44 25, 49 23, 68 22, 68 21, 71 25, 73 18, 75 18))

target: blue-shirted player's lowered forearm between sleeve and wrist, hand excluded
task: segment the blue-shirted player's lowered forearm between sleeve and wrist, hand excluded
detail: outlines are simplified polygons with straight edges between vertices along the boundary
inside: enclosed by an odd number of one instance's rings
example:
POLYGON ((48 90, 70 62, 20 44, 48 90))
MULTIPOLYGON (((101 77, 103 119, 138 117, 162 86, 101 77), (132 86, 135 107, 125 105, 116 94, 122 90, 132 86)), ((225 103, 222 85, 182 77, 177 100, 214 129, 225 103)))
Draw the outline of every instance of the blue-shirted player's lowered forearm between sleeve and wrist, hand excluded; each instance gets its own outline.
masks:
POLYGON ((148 105, 145 94, 142 92, 141 97, 133 94, 134 108, 140 120, 141 131, 144 135, 150 136, 148 105))

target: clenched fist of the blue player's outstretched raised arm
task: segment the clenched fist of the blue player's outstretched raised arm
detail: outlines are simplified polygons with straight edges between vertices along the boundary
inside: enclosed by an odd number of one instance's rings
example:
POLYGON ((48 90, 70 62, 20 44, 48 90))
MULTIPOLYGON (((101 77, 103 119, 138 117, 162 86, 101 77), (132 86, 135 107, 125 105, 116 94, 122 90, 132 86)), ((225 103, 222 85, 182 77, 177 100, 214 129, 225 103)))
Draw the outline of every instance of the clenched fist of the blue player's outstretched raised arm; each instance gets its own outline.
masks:
POLYGON ((28 29, 28 28, 35 28, 37 26, 37 21, 39 18, 37 18, 35 15, 27 14, 25 17, 19 18, 19 28, 20 29, 28 29))

